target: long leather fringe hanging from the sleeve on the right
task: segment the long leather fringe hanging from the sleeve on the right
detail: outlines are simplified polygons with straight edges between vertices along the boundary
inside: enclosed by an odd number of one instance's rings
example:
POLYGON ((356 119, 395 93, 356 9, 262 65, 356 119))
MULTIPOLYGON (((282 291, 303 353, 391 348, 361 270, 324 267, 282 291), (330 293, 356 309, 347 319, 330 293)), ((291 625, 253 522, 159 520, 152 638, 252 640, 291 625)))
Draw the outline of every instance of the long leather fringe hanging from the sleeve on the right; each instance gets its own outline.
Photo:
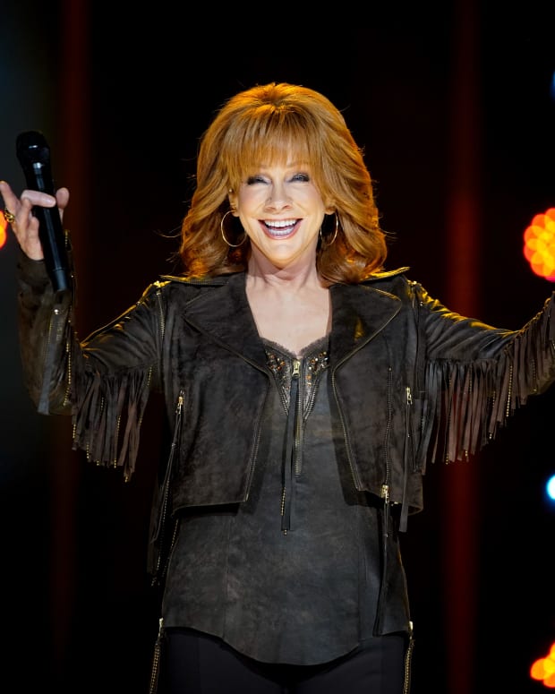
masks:
POLYGON ((423 435, 431 459, 468 458, 496 436, 529 396, 546 390, 555 380, 554 340, 551 298, 541 313, 512 334, 499 356, 429 362, 425 390, 430 416, 423 435))

